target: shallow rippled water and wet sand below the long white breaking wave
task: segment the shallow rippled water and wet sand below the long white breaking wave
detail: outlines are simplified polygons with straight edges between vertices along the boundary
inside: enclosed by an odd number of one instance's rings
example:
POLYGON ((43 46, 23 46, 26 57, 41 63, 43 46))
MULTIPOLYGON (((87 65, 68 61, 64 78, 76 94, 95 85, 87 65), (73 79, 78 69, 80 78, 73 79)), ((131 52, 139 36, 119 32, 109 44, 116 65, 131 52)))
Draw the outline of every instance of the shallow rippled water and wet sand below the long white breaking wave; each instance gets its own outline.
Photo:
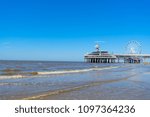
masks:
POLYGON ((48 77, 0 80, 0 99, 143 100, 150 99, 150 66, 118 68, 48 77))

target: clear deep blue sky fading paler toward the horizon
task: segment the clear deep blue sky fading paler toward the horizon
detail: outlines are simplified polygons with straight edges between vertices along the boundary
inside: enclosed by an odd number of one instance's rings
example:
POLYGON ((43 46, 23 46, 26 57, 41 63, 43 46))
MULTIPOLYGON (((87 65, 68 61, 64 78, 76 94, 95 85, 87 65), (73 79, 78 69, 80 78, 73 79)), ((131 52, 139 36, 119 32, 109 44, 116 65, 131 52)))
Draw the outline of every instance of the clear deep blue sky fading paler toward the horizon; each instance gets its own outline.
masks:
POLYGON ((150 53, 149 0, 0 0, 0 59, 82 61, 95 41, 150 53))

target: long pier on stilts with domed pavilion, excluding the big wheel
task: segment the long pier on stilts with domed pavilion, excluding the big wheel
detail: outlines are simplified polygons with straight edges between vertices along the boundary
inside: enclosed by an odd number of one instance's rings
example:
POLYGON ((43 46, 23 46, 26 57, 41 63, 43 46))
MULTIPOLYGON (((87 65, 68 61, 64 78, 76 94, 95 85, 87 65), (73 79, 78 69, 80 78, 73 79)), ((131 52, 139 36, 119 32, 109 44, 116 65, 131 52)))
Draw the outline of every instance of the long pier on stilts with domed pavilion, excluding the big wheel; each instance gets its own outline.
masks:
POLYGON ((100 46, 96 44, 96 51, 86 54, 84 61, 88 63, 143 63, 150 60, 150 54, 137 54, 131 48, 129 54, 110 54, 108 51, 101 51, 100 46))

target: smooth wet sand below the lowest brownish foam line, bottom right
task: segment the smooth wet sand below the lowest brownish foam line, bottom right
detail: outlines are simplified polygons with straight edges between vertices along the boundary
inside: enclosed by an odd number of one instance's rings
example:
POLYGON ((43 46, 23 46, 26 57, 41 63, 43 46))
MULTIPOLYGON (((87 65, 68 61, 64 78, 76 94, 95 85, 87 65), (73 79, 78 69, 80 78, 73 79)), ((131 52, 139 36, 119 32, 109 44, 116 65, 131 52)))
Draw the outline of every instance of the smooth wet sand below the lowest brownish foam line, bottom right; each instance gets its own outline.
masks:
MULTIPOLYGON (((143 75, 145 80, 149 76, 143 75)), ((37 99, 51 100, 149 100, 150 84, 133 79, 122 79, 110 81, 103 84, 97 84, 89 87, 83 87, 68 92, 62 92, 56 95, 44 96, 37 99), (147 86, 146 86, 147 85, 147 86)))

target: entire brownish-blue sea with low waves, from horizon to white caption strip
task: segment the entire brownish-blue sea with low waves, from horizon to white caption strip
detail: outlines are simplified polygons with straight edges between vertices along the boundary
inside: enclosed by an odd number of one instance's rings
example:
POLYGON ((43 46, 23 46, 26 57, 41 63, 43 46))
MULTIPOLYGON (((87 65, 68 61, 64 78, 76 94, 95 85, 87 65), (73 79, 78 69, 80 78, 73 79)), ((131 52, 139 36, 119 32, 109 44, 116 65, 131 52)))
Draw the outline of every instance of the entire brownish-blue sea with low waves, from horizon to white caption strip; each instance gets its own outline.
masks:
POLYGON ((0 61, 0 100, 149 100, 150 65, 0 61))

